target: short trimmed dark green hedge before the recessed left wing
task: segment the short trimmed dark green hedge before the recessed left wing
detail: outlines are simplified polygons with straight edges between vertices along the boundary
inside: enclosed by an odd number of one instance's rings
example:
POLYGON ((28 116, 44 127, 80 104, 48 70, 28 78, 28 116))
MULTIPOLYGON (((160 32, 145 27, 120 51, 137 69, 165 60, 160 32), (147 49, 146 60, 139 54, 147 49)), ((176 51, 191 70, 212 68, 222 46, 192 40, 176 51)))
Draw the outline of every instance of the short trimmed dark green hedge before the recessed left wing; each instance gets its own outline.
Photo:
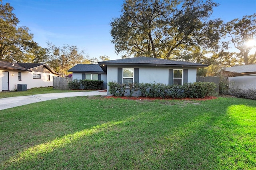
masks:
POLYGON ((74 79, 70 83, 68 83, 68 88, 71 90, 78 90, 78 89, 84 89, 84 90, 97 90, 102 89, 103 80, 78 80, 74 79))

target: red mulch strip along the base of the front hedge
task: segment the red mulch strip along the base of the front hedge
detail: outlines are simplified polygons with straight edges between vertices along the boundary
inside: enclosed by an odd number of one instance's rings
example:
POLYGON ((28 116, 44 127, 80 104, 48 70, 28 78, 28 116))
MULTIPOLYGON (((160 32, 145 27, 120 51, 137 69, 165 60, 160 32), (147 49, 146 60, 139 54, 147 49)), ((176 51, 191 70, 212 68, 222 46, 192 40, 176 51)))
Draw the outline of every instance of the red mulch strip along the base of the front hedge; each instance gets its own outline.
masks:
MULTIPOLYGON (((162 98, 152 98, 152 97, 129 97, 129 96, 124 96, 124 97, 115 97, 115 96, 106 96, 106 98, 120 98, 120 99, 129 99, 129 100, 174 100, 174 98, 169 98, 169 99, 162 99, 162 98)), ((199 100, 199 101, 204 101, 204 100, 212 100, 212 99, 217 99, 215 96, 206 96, 204 98, 183 98, 183 99, 176 99, 176 100, 199 100)))

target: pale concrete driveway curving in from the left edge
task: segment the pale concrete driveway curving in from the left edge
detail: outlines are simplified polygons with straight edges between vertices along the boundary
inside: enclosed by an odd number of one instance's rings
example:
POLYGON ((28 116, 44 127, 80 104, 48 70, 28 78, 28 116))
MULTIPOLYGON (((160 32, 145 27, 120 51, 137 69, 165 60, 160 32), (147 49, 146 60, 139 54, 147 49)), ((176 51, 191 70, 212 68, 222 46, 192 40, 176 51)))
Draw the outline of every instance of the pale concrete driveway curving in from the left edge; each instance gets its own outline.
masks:
POLYGON ((21 106, 21 105, 28 105, 30 103, 36 103, 40 101, 64 98, 64 97, 98 96, 98 95, 107 95, 107 92, 106 90, 98 90, 98 91, 89 91, 89 92, 47 93, 47 94, 40 94, 40 95, 8 97, 8 98, 0 99, 0 110, 21 106))

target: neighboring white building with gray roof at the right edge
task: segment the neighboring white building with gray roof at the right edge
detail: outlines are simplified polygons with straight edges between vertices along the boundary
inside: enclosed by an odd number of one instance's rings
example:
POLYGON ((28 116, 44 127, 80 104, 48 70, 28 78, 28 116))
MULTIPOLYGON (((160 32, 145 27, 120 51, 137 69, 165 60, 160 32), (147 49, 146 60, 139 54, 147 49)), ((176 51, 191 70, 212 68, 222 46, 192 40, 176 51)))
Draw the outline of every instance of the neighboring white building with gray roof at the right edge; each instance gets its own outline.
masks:
POLYGON ((230 89, 256 89, 256 64, 226 67, 230 89))

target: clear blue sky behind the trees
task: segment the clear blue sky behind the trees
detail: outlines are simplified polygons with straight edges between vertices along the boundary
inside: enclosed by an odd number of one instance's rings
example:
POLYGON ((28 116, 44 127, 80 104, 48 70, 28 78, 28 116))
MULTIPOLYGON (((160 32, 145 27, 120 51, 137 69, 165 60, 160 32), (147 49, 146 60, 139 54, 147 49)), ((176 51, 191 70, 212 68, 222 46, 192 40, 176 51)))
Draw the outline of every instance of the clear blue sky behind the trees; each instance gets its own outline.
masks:
MULTIPOLYGON (((110 43, 110 22, 121 15, 122 0, 3 0, 14 7, 20 26, 27 26, 34 41, 76 45, 90 58, 107 55, 120 59, 110 43)), ((225 22, 256 13, 256 0, 215 0, 212 18, 225 22)))

